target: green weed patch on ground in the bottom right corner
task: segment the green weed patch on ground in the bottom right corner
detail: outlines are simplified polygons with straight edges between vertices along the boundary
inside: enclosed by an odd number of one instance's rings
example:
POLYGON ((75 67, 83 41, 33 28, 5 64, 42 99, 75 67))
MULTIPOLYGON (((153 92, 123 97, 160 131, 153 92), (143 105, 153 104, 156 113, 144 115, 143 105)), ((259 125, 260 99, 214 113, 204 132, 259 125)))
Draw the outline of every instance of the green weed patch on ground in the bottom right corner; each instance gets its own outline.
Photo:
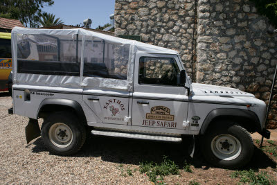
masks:
POLYGON ((254 170, 236 170, 231 173, 232 178, 240 178, 240 182, 247 184, 264 184, 270 185, 276 182, 267 175, 266 172, 256 173, 254 170))

